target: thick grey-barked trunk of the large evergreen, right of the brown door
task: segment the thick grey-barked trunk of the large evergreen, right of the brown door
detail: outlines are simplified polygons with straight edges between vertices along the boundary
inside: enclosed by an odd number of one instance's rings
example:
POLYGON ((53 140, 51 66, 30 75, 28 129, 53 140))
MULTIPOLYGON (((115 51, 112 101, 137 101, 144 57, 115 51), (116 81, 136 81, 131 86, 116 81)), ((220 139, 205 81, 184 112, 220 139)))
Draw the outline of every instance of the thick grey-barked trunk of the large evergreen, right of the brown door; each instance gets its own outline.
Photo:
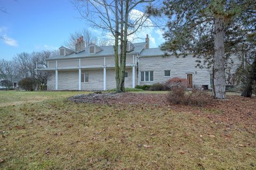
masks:
POLYGON ((222 18, 214 18, 214 92, 215 98, 226 98, 225 80, 225 49, 224 49, 224 21, 222 18))

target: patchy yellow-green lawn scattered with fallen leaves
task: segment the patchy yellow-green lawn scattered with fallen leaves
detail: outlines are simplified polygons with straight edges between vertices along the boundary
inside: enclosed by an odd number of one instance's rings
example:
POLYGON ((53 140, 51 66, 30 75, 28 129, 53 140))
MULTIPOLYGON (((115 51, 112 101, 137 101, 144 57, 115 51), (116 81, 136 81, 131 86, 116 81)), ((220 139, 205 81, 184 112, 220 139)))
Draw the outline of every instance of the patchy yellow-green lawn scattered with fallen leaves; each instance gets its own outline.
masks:
POLYGON ((79 93, 0 92, 0 169, 256 167, 250 116, 215 122, 207 115, 218 109, 67 101, 79 93))

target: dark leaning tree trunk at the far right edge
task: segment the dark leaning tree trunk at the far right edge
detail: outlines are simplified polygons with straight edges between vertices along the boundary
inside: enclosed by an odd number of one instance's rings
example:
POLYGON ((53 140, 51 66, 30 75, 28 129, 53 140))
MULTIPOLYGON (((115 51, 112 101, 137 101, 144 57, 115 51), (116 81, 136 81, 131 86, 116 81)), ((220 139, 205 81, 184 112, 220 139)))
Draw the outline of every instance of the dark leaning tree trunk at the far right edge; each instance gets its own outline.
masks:
POLYGON ((249 77, 246 83, 246 86, 242 92, 242 96, 244 97, 252 97, 252 86, 253 86, 253 81, 256 81, 256 56, 254 58, 254 61, 251 66, 251 71, 249 73, 249 77))

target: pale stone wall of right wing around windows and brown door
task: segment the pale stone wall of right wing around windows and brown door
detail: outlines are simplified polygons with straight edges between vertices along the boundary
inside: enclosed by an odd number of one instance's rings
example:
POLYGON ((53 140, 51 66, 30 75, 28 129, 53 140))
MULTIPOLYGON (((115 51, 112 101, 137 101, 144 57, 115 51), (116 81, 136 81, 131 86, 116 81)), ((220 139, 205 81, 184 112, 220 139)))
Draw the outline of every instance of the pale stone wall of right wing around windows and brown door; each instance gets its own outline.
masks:
POLYGON ((141 82, 140 84, 154 84, 164 82, 168 79, 179 77, 187 78, 187 73, 193 73, 193 84, 197 86, 209 85, 210 88, 210 71, 209 69, 196 68, 196 58, 189 55, 183 57, 140 57, 140 72, 154 71, 153 82, 141 82), (164 77, 164 70, 171 70, 171 77, 164 77))

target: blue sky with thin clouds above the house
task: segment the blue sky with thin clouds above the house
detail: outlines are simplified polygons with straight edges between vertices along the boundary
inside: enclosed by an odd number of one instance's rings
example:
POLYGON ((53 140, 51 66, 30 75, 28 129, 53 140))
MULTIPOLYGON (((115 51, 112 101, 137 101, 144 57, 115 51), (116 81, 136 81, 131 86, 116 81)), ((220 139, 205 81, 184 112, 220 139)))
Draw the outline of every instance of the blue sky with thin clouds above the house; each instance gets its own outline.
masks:
MULTIPOLYGON (((78 19, 79 13, 70 0, 0 0, 0 6, 8 12, 0 12, 0 36, 9 40, 0 40, 0 59, 11 60, 21 52, 58 49, 70 33, 90 28, 78 19)), ((101 30, 90 29, 100 36, 101 30)), ((139 38, 144 39, 147 33, 150 47, 163 43, 160 29, 143 30, 139 38)))

